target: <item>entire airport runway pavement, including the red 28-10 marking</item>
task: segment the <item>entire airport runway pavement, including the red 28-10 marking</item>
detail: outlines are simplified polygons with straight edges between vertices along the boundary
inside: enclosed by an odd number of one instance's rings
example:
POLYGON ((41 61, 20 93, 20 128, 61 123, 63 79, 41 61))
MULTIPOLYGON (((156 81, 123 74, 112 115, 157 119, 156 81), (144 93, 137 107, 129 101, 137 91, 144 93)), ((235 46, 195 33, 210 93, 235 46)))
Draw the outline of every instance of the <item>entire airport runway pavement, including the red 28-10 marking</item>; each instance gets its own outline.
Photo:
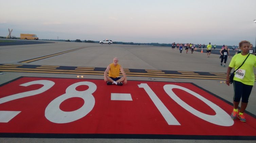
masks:
POLYGON ((0 111, 6 117, 0 118, 1 142, 256 140, 255 87, 248 122, 230 120, 233 85, 225 84, 227 67, 220 66, 219 55, 76 42, 0 46, 0 51, 0 110, 8 111, 0 111), (114 57, 128 77, 122 87, 103 80, 114 57))

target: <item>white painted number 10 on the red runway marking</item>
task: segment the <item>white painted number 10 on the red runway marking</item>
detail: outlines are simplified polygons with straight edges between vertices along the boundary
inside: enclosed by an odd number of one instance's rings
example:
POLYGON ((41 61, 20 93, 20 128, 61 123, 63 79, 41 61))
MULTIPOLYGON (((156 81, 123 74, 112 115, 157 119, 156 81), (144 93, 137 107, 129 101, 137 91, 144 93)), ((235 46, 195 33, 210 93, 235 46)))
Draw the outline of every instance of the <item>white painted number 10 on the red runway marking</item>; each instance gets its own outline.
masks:
MULTIPOLYGON (((167 121, 168 125, 180 125, 180 123, 176 120, 176 118, 170 113, 170 111, 164 106, 164 104, 160 101, 160 99, 157 97, 157 95, 150 89, 150 87, 146 83, 142 83, 138 85, 140 88, 144 88, 144 90, 147 92, 153 103, 156 105, 164 119, 167 121)), ((216 104, 212 103, 208 99, 204 98, 203 96, 199 95, 198 93, 191 91, 185 87, 178 86, 178 85, 173 85, 173 84, 167 84, 164 85, 164 90, 165 92, 176 102, 178 103, 181 107, 186 109, 188 112, 194 114, 195 116, 221 126, 232 126, 234 124, 234 121, 230 118, 230 116, 222 110, 219 106, 216 104), (193 107, 189 106, 187 103, 182 101, 173 91, 173 88, 178 88, 181 90, 184 90, 191 95, 197 97, 200 99, 202 102, 207 104, 209 107, 211 107, 215 111, 215 115, 207 115, 204 114, 193 107)))

